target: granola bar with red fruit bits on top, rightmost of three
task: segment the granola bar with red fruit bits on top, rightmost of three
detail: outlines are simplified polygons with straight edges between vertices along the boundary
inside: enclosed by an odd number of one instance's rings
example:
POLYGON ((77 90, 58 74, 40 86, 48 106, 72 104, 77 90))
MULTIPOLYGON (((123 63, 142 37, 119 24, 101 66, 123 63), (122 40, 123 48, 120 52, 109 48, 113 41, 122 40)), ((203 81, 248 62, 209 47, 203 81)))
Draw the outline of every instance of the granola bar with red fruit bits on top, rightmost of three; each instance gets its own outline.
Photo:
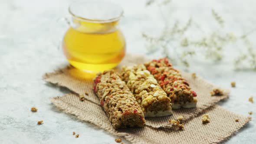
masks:
POLYGON ((187 81, 173 68, 167 58, 154 59, 144 65, 171 99, 173 109, 196 107, 196 92, 191 90, 187 81))

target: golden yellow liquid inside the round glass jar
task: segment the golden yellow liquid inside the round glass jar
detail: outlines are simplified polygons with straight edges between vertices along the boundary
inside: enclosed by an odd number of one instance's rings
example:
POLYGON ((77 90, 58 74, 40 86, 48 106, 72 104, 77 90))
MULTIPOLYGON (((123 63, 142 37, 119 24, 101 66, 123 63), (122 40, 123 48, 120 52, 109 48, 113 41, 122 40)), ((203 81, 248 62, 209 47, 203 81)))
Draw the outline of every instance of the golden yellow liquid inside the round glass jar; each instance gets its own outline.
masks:
POLYGON ((125 39, 118 22, 90 23, 79 21, 64 36, 62 47, 69 63, 86 72, 112 69, 125 56, 125 39))

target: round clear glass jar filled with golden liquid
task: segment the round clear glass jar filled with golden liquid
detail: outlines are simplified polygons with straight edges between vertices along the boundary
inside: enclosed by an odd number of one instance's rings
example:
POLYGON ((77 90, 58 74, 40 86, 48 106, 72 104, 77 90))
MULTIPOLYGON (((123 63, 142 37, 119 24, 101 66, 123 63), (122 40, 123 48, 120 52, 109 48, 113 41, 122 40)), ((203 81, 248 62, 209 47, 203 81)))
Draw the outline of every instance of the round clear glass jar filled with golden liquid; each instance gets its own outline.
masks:
POLYGON ((118 27, 123 14, 114 3, 91 1, 73 3, 72 19, 62 41, 71 65, 85 72, 112 69, 125 56, 125 38, 118 27))

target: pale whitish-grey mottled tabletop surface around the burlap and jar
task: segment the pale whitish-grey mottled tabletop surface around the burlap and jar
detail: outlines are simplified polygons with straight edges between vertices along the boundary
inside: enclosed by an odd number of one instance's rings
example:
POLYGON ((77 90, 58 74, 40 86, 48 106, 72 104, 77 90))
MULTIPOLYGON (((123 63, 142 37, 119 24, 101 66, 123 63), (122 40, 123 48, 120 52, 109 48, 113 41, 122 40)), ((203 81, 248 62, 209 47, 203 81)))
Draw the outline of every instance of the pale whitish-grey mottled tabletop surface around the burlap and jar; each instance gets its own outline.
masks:
MULTIPOLYGON (((69 91, 49 85, 41 78, 43 73, 67 64, 62 52, 56 48, 61 38, 60 32, 64 32, 65 27, 65 24, 58 24, 57 19, 68 14, 67 8, 74 1, 0 0, 1 144, 115 144, 116 137, 56 109, 49 97, 69 91), (32 113, 32 106, 36 106, 38 112, 32 113), (44 124, 37 125, 36 121, 39 120, 43 120, 44 124), (80 137, 75 138, 72 131, 80 134, 80 137)), ((145 0, 112 1, 125 10, 121 27, 126 37, 127 51, 145 54, 141 33, 156 34, 161 31, 163 21, 159 10, 154 6, 145 8, 145 0)), ((185 23, 192 16, 207 31, 216 25, 211 16, 211 8, 214 8, 222 13, 226 23, 229 23, 228 28, 235 33, 255 28, 255 6, 255 0, 173 0, 171 3, 173 20, 185 23)), ((254 37, 255 34, 250 39, 255 45, 254 37)), ((219 105, 243 115, 248 115, 248 111, 254 112, 252 121, 226 141, 228 144, 253 144, 256 142, 256 106, 249 103, 248 98, 254 95, 256 101, 256 73, 233 71, 228 58, 236 52, 229 51, 227 59, 220 64, 195 60, 188 70, 209 82, 231 89, 230 98, 219 105), (236 81, 236 88, 230 87, 231 81, 236 81)), ((160 53, 155 57, 160 57, 160 53)))

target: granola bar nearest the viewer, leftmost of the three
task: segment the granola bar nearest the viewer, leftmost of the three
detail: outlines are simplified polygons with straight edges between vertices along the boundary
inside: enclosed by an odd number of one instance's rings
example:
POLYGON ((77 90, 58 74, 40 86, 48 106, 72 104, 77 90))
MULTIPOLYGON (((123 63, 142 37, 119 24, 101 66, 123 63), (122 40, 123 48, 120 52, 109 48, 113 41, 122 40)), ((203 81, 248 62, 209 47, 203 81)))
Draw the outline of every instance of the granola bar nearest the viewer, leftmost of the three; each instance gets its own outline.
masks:
POLYGON ((98 74, 93 82, 93 90, 115 129, 144 126, 140 105, 113 70, 98 74))

